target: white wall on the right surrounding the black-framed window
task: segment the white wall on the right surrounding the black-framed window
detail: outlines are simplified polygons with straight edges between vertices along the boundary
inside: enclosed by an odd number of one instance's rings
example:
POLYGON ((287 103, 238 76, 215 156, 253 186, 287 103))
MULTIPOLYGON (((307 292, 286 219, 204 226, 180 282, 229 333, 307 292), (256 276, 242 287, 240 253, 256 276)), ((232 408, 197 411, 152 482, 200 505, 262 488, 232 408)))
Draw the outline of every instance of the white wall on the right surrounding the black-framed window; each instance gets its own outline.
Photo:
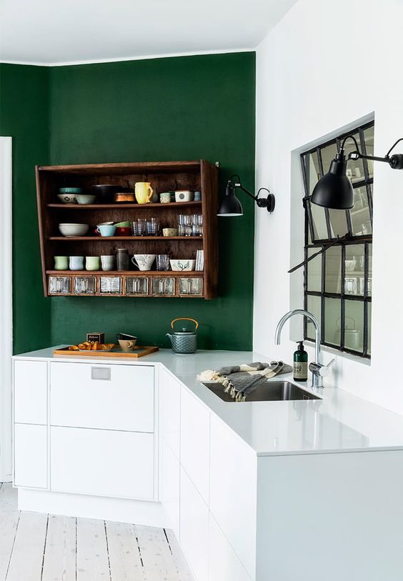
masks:
MULTIPOLYGON (((295 348, 285 328, 275 346, 274 329, 297 306, 290 277, 302 276, 287 274, 303 244, 290 227, 292 214, 304 219, 298 151, 373 114, 375 155, 403 137, 402 22, 400 0, 299 0, 257 49, 257 186, 277 200, 272 216, 256 212, 257 352, 292 361, 295 348)), ((375 164, 372 362, 338 356, 329 382, 403 414, 402 232, 403 172, 375 164)))

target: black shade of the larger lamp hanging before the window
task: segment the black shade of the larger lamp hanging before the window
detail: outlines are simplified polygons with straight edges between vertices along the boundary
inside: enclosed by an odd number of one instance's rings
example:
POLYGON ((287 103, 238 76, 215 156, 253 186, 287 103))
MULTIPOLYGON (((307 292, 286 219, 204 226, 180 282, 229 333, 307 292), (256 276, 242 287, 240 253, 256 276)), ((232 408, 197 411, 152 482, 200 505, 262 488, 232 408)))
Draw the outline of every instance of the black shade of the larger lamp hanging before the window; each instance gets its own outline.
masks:
POLYGON ((354 206, 352 183, 346 175, 347 159, 341 152, 333 159, 330 169, 314 187, 311 202, 324 208, 347 210, 354 206))

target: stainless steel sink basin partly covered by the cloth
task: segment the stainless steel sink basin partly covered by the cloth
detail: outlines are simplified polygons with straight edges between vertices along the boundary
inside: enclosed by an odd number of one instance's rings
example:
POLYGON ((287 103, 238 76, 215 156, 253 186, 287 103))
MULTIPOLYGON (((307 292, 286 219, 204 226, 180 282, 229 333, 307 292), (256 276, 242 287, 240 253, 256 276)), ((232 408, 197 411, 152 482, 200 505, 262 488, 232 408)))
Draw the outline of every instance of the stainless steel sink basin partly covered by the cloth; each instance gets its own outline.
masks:
MULTIPOLYGON (((204 383, 214 394, 224 402, 236 402, 229 393, 224 392, 224 387, 219 383, 204 383)), ((311 392, 305 391, 298 385, 290 382, 265 382, 247 395, 247 402, 286 402, 292 399, 322 399, 311 392)))

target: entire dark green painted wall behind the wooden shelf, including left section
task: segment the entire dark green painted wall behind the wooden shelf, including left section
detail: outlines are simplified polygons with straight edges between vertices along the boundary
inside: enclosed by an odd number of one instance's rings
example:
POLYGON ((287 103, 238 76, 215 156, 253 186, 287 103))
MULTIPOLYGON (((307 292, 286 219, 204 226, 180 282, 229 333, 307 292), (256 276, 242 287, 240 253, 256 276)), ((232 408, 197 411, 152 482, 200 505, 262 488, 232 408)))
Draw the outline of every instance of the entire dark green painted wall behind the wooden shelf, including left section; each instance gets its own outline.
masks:
POLYGON ((199 320, 201 348, 252 348, 254 204, 248 199, 244 199, 243 218, 219 219, 219 297, 213 301, 43 299, 33 170, 34 164, 46 162, 204 158, 220 162, 221 189, 234 172, 253 189, 255 54, 10 67, 6 67, 6 99, 2 99, 6 101, 6 123, 0 134, 15 138, 17 156, 16 352, 49 343, 77 342, 86 332, 98 330, 104 331, 108 340, 116 332, 126 331, 136 334, 142 344, 168 347, 165 333, 171 319, 181 316, 199 320), (17 96, 13 86, 18 89, 17 96), (23 138, 24 149, 17 149, 23 147, 23 138), (32 282, 24 287, 22 274, 27 272, 32 282), (27 323, 24 329, 22 321, 27 323))

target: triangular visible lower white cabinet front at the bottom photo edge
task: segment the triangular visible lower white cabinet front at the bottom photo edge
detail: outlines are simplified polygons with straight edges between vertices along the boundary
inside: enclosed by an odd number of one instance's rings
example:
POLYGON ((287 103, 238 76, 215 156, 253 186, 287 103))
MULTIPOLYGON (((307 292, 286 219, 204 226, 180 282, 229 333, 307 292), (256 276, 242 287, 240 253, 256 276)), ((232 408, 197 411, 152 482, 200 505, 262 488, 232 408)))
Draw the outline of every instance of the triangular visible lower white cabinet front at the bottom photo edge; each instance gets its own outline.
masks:
POLYGON ((210 513, 209 581, 251 581, 242 562, 210 513))

